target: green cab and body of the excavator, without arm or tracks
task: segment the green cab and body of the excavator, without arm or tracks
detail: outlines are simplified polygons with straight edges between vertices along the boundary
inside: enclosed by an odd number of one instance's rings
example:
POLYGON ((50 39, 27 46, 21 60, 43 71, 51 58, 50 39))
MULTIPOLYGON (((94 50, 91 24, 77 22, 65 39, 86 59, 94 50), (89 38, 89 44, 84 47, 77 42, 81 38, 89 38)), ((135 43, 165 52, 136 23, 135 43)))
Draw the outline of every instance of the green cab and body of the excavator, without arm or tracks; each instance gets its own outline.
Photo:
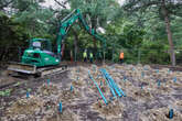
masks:
POLYGON ((22 64, 35 65, 36 67, 58 65, 60 61, 52 52, 51 42, 45 38, 33 38, 30 46, 24 51, 22 64))

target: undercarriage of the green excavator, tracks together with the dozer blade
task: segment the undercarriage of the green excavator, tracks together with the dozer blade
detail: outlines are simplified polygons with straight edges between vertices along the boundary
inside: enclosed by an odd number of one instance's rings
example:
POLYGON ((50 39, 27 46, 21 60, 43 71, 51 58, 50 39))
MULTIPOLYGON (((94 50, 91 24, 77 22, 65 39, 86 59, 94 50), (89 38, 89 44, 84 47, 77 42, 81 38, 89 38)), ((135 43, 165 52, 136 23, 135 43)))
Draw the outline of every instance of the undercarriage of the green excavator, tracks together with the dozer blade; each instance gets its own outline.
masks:
POLYGON ((68 70, 67 65, 47 66, 47 67, 35 67, 28 64, 10 63, 8 66, 10 76, 18 78, 32 79, 34 77, 47 77, 68 70))

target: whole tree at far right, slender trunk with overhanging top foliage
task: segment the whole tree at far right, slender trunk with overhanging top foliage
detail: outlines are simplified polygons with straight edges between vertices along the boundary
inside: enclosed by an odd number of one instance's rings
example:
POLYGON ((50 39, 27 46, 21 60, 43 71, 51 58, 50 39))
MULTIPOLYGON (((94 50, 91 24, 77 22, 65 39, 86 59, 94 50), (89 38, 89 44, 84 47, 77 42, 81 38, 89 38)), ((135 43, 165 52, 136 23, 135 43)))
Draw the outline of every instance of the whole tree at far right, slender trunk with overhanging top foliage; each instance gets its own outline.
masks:
MULTIPOLYGON (((173 1, 173 0, 127 0, 125 8, 130 13, 136 13, 135 11, 146 12, 152 11, 154 12, 158 19, 163 20, 165 24, 165 30, 168 34, 168 41, 170 45, 170 58, 171 64, 175 66, 175 54, 174 54, 174 45, 172 38, 172 31, 171 31, 171 22, 170 20, 172 15, 181 16, 180 10, 182 1, 173 1)), ((161 29, 156 26, 156 29, 161 29)))

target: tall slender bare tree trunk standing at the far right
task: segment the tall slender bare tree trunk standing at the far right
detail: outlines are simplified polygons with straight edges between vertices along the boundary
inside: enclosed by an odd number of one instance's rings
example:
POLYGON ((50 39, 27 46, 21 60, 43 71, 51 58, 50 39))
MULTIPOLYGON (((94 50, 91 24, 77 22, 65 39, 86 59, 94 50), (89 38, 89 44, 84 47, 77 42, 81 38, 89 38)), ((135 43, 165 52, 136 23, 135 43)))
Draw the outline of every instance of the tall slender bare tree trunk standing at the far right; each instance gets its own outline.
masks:
POLYGON ((169 44, 170 44, 170 58, 171 58, 172 66, 175 66, 174 45, 173 45, 173 41, 172 41, 172 33, 171 33, 171 29, 170 29, 170 21, 169 21, 168 10, 165 8, 165 0, 162 0, 162 11, 163 11, 164 21, 165 21, 168 41, 169 41, 169 44))

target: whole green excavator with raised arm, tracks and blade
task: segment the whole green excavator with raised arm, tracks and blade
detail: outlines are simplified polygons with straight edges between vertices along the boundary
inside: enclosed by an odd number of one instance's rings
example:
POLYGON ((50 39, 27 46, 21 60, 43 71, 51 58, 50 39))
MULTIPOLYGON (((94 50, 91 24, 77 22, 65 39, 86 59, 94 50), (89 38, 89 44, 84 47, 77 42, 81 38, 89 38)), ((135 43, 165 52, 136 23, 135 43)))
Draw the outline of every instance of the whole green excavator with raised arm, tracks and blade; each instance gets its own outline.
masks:
POLYGON ((105 46, 106 41, 100 37, 94 29, 90 29, 87 25, 81 11, 76 9, 61 21, 60 32, 56 40, 56 54, 52 52, 50 40, 32 38, 29 48, 24 51, 23 56, 21 57, 21 63, 10 63, 8 70, 39 76, 65 72, 67 66, 61 64, 62 43, 66 38, 69 28, 77 21, 82 23, 88 34, 101 41, 105 46))

